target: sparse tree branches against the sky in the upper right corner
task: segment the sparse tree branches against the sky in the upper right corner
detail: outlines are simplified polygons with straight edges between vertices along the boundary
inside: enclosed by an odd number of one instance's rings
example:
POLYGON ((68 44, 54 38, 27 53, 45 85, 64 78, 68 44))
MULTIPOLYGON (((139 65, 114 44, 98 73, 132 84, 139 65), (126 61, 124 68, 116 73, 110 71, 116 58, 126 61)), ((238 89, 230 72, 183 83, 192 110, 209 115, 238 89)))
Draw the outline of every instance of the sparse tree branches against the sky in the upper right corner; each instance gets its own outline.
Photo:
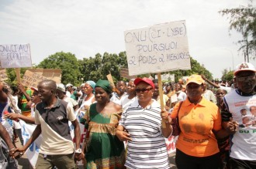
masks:
POLYGON ((250 0, 247 7, 240 5, 239 8, 225 8, 220 11, 221 15, 227 15, 230 19, 230 30, 235 29, 243 35, 243 39, 237 43, 240 44, 240 49, 251 58, 256 57, 256 8, 250 0))

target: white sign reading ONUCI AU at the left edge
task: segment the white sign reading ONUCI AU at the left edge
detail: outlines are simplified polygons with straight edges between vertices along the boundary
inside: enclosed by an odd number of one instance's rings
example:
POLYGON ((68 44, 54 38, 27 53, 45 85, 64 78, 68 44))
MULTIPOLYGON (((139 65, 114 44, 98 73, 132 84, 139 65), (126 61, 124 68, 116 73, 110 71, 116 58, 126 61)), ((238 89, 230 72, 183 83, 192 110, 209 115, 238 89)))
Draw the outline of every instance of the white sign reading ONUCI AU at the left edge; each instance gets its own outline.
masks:
POLYGON ((29 44, 0 45, 2 68, 32 67, 29 44))

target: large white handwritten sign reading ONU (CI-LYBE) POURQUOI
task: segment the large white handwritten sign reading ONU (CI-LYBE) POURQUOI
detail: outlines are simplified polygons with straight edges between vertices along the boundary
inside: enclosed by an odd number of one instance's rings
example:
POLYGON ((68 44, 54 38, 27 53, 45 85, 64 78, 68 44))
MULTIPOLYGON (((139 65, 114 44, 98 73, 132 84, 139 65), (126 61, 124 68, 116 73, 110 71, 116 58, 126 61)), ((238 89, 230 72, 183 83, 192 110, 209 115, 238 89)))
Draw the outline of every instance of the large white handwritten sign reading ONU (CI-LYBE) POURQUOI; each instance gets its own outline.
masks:
POLYGON ((185 21, 124 32, 129 75, 191 69, 185 21))

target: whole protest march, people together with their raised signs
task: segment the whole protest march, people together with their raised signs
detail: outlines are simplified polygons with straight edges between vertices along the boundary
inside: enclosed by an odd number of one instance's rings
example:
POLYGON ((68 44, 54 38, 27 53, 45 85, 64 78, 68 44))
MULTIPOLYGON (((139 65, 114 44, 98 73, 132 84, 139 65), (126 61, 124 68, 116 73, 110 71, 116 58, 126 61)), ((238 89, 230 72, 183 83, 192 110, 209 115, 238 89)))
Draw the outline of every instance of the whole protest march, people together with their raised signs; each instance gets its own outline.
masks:
POLYGON ((0 45, 0 168, 24 154, 27 168, 171 168, 170 154, 182 169, 255 168, 255 66, 239 63, 230 82, 177 80, 170 71, 192 69, 187 32, 185 20, 126 30, 120 78, 80 83, 33 66, 29 43, 0 45))

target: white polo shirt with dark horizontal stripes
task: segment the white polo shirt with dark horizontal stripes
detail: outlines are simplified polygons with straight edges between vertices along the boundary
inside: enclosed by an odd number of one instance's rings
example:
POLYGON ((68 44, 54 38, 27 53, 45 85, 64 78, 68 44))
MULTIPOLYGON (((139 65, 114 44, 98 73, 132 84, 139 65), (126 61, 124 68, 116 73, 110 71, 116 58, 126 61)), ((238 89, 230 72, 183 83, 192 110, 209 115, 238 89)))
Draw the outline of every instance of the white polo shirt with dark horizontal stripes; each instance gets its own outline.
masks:
POLYGON ((119 125, 126 128, 132 139, 127 144, 126 167, 170 168, 157 101, 152 100, 144 109, 135 100, 122 114, 119 125))

